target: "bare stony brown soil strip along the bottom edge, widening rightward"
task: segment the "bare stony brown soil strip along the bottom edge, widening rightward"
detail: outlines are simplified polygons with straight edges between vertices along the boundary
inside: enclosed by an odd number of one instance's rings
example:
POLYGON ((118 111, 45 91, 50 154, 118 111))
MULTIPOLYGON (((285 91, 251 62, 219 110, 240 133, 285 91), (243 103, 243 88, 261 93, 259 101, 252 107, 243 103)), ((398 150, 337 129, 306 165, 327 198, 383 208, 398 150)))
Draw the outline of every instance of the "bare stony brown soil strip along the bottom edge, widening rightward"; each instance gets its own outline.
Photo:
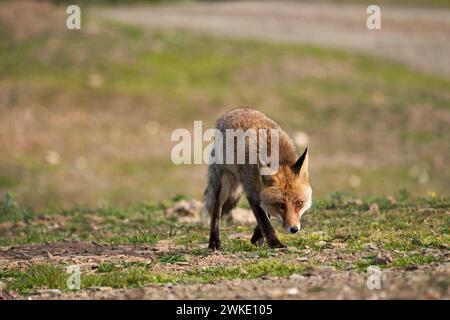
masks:
POLYGON ((218 281, 213 284, 96 288, 78 293, 43 293, 30 299, 449 299, 449 265, 383 270, 380 289, 368 289, 368 274, 324 268, 307 276, 218 281))

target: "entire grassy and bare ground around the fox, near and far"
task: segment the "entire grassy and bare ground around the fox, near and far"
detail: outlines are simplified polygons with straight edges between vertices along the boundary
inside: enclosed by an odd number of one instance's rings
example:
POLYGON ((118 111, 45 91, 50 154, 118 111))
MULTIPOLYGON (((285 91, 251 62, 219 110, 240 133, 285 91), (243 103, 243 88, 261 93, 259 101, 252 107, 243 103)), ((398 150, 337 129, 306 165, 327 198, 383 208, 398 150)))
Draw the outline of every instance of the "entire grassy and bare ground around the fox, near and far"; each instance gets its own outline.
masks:
POLYGON ((299 4, 235 5, 83 7, 68 31, 63 6, 0 4, 1 298, 449 298, 448 9, 386 8, 365 38, 345 15, 362 7, 305 5, 305 24, 299 4), (173 210, 206 167, 174 166, 171 132, 238 105, 310 146, 313 207, 285 250, 234 221, 210 253, 173 210))

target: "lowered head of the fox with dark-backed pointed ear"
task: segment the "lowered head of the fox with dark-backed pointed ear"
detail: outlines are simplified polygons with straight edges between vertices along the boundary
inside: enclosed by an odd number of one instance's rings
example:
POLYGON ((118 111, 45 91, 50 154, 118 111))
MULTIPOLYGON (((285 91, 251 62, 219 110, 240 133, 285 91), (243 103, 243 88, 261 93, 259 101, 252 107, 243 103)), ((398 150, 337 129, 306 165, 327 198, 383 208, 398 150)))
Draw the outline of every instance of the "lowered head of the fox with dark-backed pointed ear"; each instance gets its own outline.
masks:
POLYGON ((311 207, 312 189, 308 177, 308 149, 294 164, 280 164, 277 173, 261 176, 261 208, 278 217, 289 233, 300 230, 300 219, 311 207))

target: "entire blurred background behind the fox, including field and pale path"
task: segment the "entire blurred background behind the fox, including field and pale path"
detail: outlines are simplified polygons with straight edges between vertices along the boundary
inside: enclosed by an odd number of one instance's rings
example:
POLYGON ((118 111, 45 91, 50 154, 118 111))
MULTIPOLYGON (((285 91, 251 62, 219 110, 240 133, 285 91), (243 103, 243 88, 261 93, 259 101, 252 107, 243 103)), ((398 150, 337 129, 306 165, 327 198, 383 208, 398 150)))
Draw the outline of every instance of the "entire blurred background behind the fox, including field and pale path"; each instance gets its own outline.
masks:
POLYGON ((381 30, 369 4, 0 1, 0 196, 200 199, 206 166, 173 165, 170 134, 237 106, 310 147, 316 197, 449 195, 450 1, 376 1, 381 30))

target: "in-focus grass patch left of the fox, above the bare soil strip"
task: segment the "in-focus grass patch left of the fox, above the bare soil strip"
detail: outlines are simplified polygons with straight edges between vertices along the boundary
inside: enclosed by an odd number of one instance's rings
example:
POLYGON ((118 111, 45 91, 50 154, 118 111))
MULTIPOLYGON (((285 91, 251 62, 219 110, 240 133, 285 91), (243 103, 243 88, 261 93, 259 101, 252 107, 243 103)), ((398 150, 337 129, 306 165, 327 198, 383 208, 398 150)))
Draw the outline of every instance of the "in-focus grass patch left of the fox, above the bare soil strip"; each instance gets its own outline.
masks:
MULTIPOLYGON (((177 226, 164 208, 178 197, 127 208, 74 208, 32 211, 19 207, 12 195, 0 202, 0 245, 86 240, 109 244, 148 244, 169 238, 177 226), (55 227, 56 226, 56 227, 55 227)), ((179 226, 183 229, 183 226, 179 226)), ((187 233, 186 233, 187 234, 187 233)))

